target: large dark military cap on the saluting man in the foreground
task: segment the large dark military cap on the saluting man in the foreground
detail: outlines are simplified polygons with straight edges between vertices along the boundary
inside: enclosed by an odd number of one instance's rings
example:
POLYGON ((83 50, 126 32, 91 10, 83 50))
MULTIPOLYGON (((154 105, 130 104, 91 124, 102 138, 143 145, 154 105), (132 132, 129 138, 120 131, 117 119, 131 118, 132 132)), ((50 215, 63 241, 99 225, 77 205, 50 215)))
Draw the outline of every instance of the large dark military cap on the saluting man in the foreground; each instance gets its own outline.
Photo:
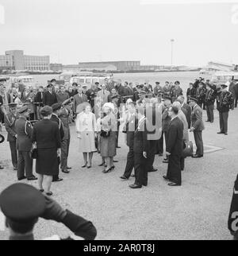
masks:
POLYGON ((29 184, 13 184, 0 194, 2 213, 15 221, 27 221, 40 217, 46 202, 42 193, 29 184))

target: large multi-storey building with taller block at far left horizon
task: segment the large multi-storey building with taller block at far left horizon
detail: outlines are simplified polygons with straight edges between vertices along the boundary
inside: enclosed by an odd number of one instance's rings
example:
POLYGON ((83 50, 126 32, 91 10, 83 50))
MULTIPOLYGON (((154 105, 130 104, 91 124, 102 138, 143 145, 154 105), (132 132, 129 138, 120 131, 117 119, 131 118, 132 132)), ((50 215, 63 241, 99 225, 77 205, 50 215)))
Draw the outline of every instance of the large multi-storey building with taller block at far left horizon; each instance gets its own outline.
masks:
POLYGON ((0 68, 27 71, 48 71, 50 69, 49 56, 24 55, 21 50, 6 51, 0 56, 0 68))

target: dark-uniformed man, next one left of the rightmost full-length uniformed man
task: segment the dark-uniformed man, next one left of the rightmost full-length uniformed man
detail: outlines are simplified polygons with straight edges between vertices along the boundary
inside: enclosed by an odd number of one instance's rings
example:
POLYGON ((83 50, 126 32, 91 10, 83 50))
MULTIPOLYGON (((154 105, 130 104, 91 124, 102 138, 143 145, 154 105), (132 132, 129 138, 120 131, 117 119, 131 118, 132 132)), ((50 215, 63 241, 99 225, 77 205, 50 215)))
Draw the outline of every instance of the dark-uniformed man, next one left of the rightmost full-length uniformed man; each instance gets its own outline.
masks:
POLYGON ((206 122, 214 122, 214 103, 216 92, 211 88, 209 83, 206 83, 205 107, 207 113, 206 122))

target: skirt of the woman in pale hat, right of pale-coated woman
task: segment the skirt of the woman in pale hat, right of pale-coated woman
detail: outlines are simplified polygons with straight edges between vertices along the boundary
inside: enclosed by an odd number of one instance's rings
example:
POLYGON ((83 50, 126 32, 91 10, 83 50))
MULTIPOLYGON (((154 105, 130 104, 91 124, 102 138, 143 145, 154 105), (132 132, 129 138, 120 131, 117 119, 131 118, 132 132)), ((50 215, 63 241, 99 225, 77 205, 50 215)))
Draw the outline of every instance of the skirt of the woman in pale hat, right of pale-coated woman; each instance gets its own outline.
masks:
POLYGON ((116 132, 111 132, 107 138, 101 137, 100 152, 101 157, 115 157, 117 154, 116 132))

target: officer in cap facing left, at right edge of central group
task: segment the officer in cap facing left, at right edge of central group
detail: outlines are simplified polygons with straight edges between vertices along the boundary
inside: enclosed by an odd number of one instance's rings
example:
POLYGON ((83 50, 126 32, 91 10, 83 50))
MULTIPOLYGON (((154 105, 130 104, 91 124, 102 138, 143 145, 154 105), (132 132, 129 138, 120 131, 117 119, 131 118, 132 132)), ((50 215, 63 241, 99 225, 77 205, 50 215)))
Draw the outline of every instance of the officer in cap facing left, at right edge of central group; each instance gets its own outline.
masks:
POLYGON ((204 123, 202 121, 202 108, 198 106, 198 99, 190 97, 190 107, 192 108, 191 122, 192 128, 190 132, 194 132, 194 139, 197 145, 197 153, 193 156, 194 158, 203 157, 203 141, 202 141, 202 130, 205 130, 204 123))

